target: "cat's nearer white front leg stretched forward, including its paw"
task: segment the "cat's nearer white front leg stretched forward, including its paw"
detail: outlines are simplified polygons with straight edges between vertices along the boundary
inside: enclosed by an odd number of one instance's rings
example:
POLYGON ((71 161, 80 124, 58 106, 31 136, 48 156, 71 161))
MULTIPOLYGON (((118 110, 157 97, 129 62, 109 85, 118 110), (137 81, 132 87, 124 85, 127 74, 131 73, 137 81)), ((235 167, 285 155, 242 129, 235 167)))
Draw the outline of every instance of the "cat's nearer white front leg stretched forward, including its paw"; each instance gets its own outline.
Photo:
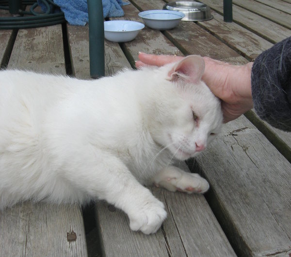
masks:
POLYGON ((81 173, 74 172, 71 182, 90 197, 104 199, 126 212, 132 230, 155 233, 167 216, 163 203, 118 158, 106 153, 98 153, 94 160, 86 157, 87 163, 81 167, 81 173))

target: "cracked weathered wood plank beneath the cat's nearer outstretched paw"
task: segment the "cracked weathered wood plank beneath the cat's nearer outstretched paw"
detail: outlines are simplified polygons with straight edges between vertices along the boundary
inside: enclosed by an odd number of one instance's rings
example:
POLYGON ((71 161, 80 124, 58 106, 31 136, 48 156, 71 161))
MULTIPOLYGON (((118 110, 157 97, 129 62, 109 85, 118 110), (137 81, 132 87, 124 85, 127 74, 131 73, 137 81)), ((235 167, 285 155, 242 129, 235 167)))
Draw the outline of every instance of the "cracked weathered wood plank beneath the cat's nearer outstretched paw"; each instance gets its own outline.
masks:
POLYGON ((162 229, 154 235, 130 231, 125 213, 98 203, 96 216, 105 256, 236 256, 202 195, 156 187, 152 191, 168 212, 162 229), (118 231, 114 237, 112 231, 118 231))

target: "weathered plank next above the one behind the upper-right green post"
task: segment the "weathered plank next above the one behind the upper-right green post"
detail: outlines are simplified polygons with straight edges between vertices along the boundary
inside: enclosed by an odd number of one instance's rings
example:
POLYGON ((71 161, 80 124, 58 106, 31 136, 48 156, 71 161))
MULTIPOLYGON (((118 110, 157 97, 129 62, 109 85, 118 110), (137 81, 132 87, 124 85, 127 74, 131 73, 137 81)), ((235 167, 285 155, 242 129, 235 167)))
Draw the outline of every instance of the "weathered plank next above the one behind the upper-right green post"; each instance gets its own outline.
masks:
POLYGON ((233 3, 277 24, 291 29, 291 15, 254 0, 233 0, 233 3))

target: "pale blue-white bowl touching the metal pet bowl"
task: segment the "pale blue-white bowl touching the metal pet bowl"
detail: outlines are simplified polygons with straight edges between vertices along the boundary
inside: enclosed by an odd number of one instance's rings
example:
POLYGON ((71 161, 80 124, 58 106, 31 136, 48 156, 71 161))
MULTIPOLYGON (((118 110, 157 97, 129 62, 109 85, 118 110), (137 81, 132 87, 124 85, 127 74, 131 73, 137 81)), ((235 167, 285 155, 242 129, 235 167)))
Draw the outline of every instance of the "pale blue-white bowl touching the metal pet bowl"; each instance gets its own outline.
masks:
POLYGON ((171 30, 185 15, 178 11, 149 10, 138 14, 146 26, 154 30, 171 30))

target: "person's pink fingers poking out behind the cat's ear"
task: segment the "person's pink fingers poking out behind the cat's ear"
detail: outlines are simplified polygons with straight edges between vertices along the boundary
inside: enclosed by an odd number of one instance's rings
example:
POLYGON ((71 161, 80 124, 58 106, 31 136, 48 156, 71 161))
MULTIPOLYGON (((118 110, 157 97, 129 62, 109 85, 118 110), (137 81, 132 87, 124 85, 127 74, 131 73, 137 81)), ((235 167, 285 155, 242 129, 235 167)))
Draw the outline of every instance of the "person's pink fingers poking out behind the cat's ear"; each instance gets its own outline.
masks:
MULTIPOLYGON (((174 55, 154 55, 140 52, 138 58, 142 63, 147 65, 163 66, 167 63, 181 60, 183 57, 174 55)), ((144 64, 142 65, 139 61, 136 62, 136 65, 144 66, 144 64)))

